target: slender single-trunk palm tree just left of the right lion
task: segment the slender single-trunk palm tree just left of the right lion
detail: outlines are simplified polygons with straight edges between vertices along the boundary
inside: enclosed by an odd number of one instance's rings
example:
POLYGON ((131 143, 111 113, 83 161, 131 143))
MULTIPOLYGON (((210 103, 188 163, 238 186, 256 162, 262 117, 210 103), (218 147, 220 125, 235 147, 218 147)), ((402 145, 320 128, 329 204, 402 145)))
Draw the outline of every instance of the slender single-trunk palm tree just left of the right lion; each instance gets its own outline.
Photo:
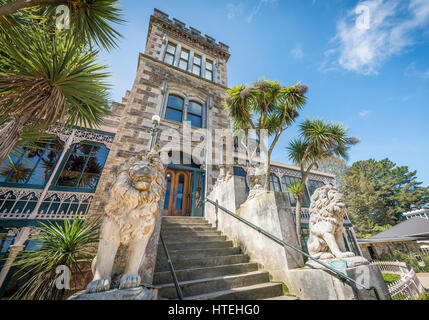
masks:
POLYGON ((339 123, 326 123, 322 120, 307 119, 299 126, 300 137, 290 142, 287 147, 289 160, 299 166, 301 181, 292 184, 289 191, 296 198, 296 231, 301 242, 301 208, 308 176, 312 169, 327 157, 347 159, 351 145, 359 140, 347 137, 347 129, 339 123))

